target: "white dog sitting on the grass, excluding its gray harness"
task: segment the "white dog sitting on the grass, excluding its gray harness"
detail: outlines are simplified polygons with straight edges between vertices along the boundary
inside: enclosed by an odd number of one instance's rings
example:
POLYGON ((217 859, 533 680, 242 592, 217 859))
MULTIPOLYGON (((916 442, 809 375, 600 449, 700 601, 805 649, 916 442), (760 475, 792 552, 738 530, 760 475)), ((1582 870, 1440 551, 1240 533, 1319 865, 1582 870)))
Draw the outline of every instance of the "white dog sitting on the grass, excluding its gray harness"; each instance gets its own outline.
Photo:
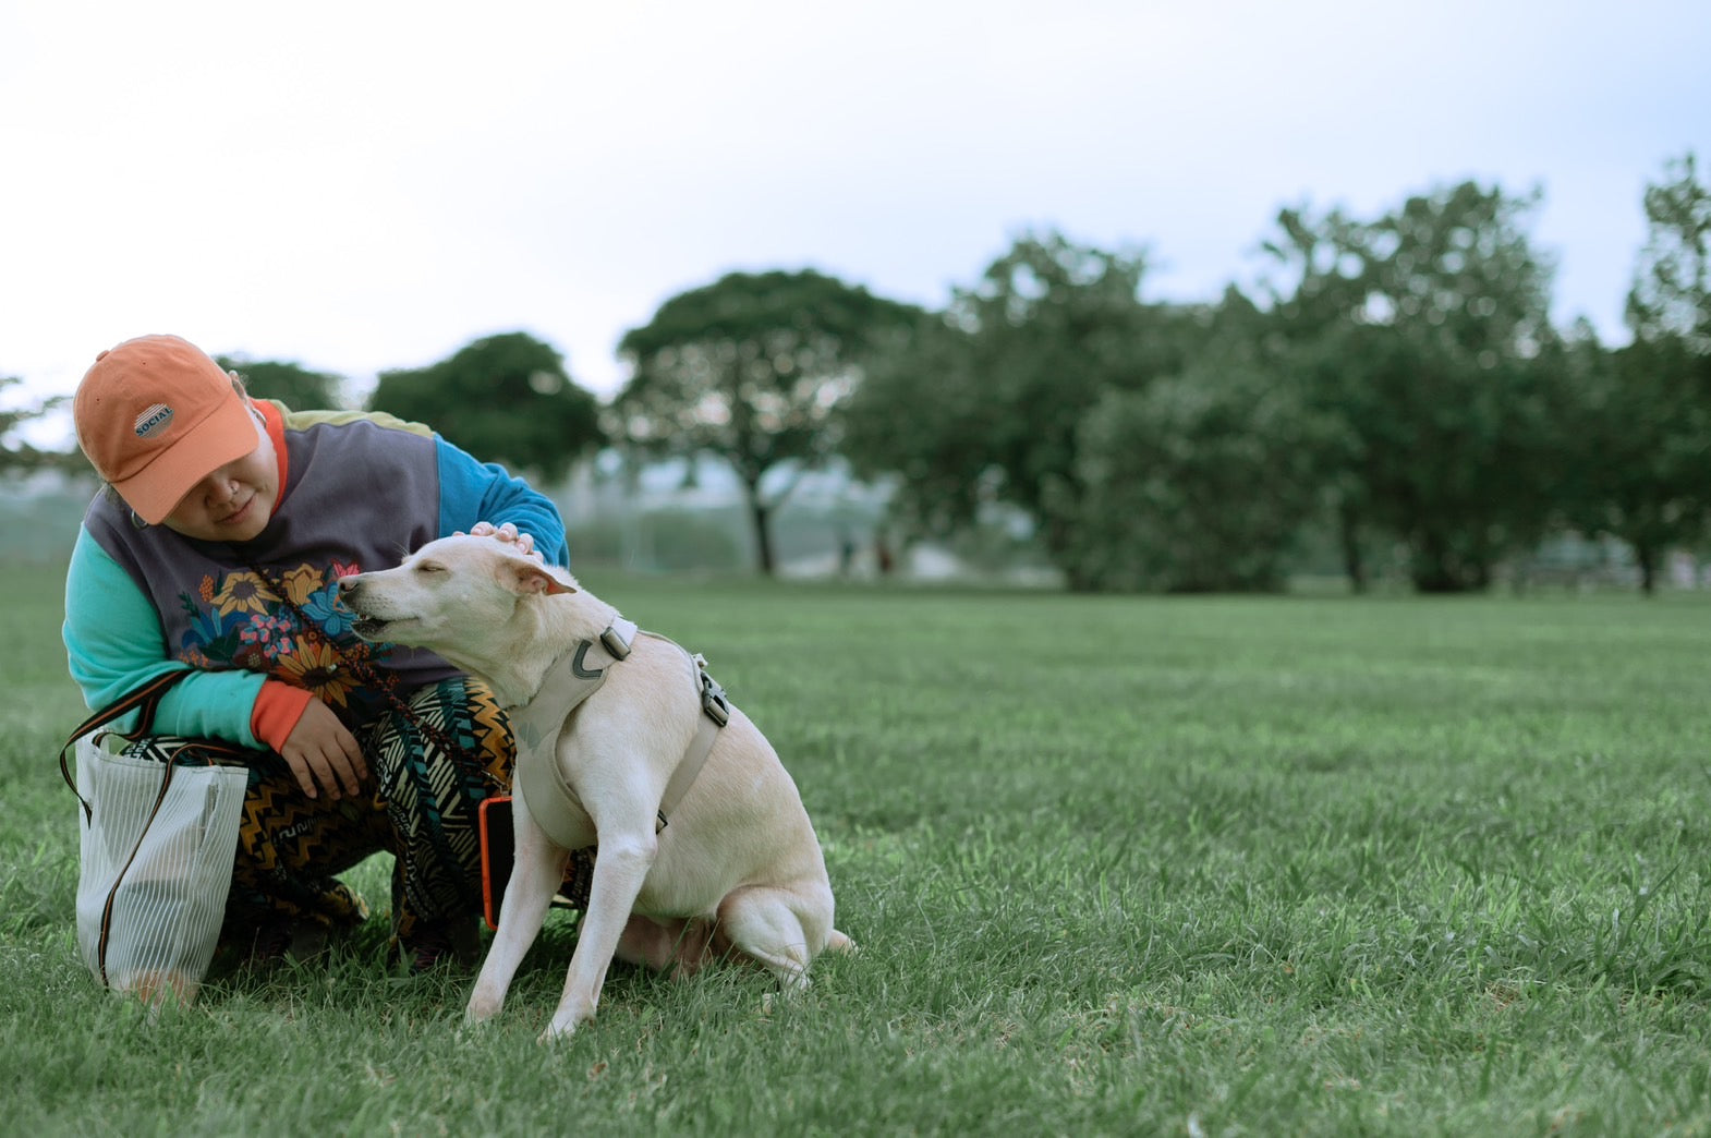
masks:
MULTIPOLYGON (((346 577, 340 596, 359 616, 358 635, 438 652, 484 679, 513 722, 539 722, 541 707, 530 705, 537 695, 554 700, 556 662, 575 657, 577 673, 592 674, 587 649, 628 625, 565 570, 493 537, 429 542, 394 570, 346 577)), ((524 797, 525 787, 541 785, 539 775, 530 782, 518 772, 517 859, 469 998, 471 1020, 505 1005, 573 847, 599 845, 599 856, 565 994, 544 1037, 568 1035, 594 1016, 614 955, 686 974, 736 950, 790 991, 808 984, 808 965, 823 948, 850 946, 832 928, 832 885, 796 784, 743 712, 720 702, 729 722, 705 763, 686 792, 681 777, 672 782, 698 732, 712 731, 703 727, 700 674, 676 643, 643 633, 628 657, 606 662, 597 690, 575 712, 553 708, 537 758, 568 791, 551 815, 559 840, 542 830, 549 815, 530 818, 524 797), (667 803, 660 828, 667 787, 681 801, 667 803)), ((520 765, 524 751, 518 732, 520 765)))

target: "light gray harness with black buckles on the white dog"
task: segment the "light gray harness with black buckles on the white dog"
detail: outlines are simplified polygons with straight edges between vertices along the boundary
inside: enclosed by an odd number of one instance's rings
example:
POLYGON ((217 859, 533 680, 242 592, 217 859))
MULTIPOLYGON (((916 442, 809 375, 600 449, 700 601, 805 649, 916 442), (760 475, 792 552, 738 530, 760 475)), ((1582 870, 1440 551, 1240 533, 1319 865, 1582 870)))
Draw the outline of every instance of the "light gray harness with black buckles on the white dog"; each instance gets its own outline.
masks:
POLYGON ((599 640, 577 642, 575 649, 553 662, 546 681, 532 700, 506 708, 512 734, 517 739, 515 782, 522 787, 529 816, 559 849, 573 849, 582 844, 575 835, 587 828, 589 811, 582 808, 577 792, 565 782, 565 772, 558 765, 558 738, 570 726, 577 707, 606 683, 606 671, 630 655, 630 647, 638 635, 664 640, 683 652, 684 662, 690 666, 690 681, 696 686, 702 700, 702 726, 666 784, 654 833, 666 828, 667 818, 683 803, 695 777, 702 773, 702 765, 713 750, 719 729, 731 722, 731 703, 725 700, 725 690, 707 674, 707 661, 700 654, 691 655, 674 640, 638 631, 635 621, 619 616, 611 628, 601 633, 599 640))

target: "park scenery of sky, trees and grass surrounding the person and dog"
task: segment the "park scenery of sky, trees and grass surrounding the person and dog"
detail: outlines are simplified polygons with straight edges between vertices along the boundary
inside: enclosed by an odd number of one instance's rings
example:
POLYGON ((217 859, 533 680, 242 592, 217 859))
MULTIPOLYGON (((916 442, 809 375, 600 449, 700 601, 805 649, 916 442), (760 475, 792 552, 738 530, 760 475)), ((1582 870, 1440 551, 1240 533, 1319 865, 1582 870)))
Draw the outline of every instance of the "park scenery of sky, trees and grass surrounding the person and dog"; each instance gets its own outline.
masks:
POLYGON ((1711 1129, 1711 10, 1179 9, 0 5, 0 1128, 1711 1129), (53 400, 140 332, 539 477, 862 953, 101 993, 53 400))

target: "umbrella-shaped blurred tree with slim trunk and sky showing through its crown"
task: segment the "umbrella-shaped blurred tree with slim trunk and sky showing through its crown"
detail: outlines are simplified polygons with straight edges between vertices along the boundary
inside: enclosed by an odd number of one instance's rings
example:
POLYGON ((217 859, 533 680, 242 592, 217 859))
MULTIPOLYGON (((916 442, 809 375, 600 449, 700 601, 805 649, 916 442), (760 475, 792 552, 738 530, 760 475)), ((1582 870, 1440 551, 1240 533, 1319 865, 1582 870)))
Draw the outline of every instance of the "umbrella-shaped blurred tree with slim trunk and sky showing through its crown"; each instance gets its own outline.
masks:
MULTIPOLYGON (((772 573, 772 517, 796 477, 838 443, 838 404, 864 363, 919 310, 813 270, 732 272, 667 299, 618 344, 631 378, 613 400, 621 433, 654 453, 713 453, 748 501, 760 568, 772 573), (773 469, 790 481, 763 493, 773 469)), ((618 431, 614 431, 618 433, 618 431)))

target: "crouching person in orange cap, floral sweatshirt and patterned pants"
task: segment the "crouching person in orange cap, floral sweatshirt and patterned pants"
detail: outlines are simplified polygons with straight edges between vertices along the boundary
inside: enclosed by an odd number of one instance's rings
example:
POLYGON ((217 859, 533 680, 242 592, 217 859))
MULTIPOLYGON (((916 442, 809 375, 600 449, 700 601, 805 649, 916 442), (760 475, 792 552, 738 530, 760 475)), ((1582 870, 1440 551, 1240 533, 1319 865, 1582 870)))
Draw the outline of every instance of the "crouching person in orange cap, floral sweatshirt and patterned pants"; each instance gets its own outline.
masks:
POLYGON ((101 353, 74 418, 106 486, 65 584, 72 678, 96 708, 190 669, 151 731, 252 753, 222 945, 269 962, 354 928, 335 874, 385 851, 397 951, 467 960, 505 715, 443 659, 354 637, 337 582, 457 530, 566 565, 558 510, 426 426, 250 399, 175 335, 101 353))

